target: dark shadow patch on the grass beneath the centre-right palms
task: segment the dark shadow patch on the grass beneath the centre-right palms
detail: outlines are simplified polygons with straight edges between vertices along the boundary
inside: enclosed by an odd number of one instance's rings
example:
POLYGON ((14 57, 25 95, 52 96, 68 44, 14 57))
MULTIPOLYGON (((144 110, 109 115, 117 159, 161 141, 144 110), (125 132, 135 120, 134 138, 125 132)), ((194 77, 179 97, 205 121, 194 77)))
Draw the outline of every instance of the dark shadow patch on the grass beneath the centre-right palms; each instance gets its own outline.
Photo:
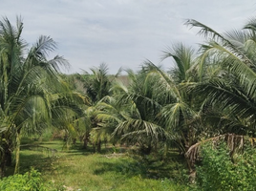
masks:
POLYGON ((185 163, 180 156, 174 155, 168 161, 154 159, 152 156, 141 158, 134 156, 134 159, 118 159, 115 162, 104 161, 96 163, 96 175, 114 172, 127 177, 140 176, 143 179, 170 179, 183 181, 187 174, 185 163))

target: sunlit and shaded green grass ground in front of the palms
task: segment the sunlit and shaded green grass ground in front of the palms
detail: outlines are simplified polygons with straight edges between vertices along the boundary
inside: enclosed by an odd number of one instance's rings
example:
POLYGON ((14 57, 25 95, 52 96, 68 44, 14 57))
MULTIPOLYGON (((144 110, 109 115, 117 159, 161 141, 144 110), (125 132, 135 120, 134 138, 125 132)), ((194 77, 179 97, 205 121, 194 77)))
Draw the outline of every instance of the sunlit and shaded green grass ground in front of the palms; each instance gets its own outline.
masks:
POLYGON ((20 173, 27 172, 33 166, 42 173, 45 181, 52 181, 59 190, 63 186, 67 190, 82 191, 187 190, 186 186, 170 180, 171 174, 178 172, 175 167, 168 167, 162 162, 142 162, 127 153, 116 154, 113 149, 103 150, 103 154, 93 154, 79 145, 63 150, 63 141, 60 140, 30 140, 27 143, 39 146, 22 147, 20 173), (164 172, 170 175, 168 180, 163 178, 164 172))

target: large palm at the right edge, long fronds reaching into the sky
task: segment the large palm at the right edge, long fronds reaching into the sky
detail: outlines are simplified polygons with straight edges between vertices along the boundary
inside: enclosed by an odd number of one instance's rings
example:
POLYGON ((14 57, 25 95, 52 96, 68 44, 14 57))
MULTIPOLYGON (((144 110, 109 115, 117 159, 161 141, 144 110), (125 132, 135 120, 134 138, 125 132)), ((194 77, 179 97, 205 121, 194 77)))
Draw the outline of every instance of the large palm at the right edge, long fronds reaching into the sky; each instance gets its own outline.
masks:
POLYGON ((188 20, 187 25, 200 28, 199 33, 207 39, 202 45, 199 66, 218 68, 193 90, 203 98, 203 121, 213 131, 208 138, 229 134, 255 137, 255 19, 241 31, 224 34, 195 20, 188 20))

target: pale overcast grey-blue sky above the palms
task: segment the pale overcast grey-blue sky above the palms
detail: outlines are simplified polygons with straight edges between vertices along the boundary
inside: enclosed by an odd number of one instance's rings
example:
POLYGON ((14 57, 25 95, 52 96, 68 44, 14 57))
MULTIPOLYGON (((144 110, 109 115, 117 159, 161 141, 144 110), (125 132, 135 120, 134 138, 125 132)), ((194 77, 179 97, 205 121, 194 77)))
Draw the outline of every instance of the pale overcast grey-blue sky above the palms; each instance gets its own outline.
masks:
POLYGON ((163 51, 180 42, 195 48, 203 42, 197 29, 183 25, 186 19, 226 32, 256 17, 252 0, 0 0, 0 5, 0 17, 13 25, 16 16, 23 18, 29 46, 40 35, 57 42, 53 55, 69 61, 66 74, 90 72, 103 62, 110 74, 120 67, 138 71, 145 60, 170 69, 173 60, 161 61, 163 51))

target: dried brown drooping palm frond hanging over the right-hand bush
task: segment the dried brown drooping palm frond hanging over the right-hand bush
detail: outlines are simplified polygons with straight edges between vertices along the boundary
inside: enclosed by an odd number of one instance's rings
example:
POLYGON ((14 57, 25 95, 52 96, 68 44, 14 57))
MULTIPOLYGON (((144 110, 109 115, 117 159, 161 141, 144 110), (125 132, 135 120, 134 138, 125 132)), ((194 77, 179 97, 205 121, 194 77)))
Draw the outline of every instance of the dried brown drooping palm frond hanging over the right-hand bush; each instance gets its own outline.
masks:
POLYGON ((230 156, 232 156, 237 149, 241 150, 244 147, 245 139, 248 140, 251 143, 251 145, 254 145, 256 142, 256 138, 248 138, 245 136, 235 134, 224 134, 214 138, 207 138, 192 145, 185 153, 185 157, 189 159, 192 164, 194 164, 195 161, 199 159, 200 146, 203 143, 212 142, 214 145, 216 145, 221 140, 226 142, 227 147, 230 151, 230 156))

